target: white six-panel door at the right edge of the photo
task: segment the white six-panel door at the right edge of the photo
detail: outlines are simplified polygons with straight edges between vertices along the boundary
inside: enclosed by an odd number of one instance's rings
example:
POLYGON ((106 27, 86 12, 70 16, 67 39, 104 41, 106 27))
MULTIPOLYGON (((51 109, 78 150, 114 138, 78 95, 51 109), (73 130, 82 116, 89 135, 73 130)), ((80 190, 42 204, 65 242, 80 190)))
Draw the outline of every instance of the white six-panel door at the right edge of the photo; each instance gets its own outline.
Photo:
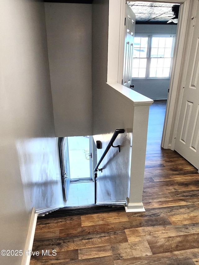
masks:
MULTIPOLYGON (((199 14, 199 2, 196 14, 199 14)), ((195 18, 174 149, 199 168, 199 16, 195 18)))

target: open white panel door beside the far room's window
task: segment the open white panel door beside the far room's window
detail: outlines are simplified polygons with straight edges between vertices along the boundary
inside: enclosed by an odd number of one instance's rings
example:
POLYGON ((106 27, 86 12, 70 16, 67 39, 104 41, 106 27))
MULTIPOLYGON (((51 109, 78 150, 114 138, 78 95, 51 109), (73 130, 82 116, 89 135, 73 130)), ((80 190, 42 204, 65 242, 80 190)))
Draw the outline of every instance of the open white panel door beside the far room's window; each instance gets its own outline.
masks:
POLYGON ((136 16, 126 3, 123 85, 130 88, 136 16))

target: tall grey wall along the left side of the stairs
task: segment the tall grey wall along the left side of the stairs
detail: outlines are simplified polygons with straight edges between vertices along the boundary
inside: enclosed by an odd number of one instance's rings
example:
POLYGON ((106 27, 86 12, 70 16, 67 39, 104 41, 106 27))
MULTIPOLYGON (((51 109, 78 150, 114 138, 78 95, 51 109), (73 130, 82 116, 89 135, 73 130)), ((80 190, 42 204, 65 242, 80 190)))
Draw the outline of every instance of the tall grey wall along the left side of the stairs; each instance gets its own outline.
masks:
POLYGON ((44 3, 1 0, 0 10, 0 249, 24 251, 33 206, 63 203, 44 3))

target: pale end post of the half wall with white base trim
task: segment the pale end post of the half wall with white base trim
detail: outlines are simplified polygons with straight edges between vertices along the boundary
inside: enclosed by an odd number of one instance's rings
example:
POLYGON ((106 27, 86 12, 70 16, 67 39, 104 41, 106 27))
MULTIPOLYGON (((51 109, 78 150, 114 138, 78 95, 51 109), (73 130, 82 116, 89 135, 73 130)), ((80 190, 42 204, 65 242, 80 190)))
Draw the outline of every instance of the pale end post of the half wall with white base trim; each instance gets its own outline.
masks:
POLYGON ((142 203, 146 140, 149 106, 152 102, 134 103, 130 190, 127 197, 126 212, 145 212, 142 203))

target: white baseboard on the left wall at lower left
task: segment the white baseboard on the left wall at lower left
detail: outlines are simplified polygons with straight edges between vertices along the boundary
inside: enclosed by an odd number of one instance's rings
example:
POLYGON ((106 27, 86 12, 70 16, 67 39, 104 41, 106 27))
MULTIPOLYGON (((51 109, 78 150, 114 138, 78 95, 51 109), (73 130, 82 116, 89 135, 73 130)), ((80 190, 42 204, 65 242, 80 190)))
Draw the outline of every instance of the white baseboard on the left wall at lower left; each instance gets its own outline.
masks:
MULTIPOLYGON (((31 215, 31 219, 30 219, 29 230, 28 230, 28 235, 27 235, 26 244, 25 244, 25 250, 32 250, 34 236, 35 236, 35 229, 36 229, 36 224, 37 224, 37 217, 38 217, 38 213, 35 212, 35 207, 33 207, 32 215, 31 215)), ((25 250, 24 250, 24 252, 25 252, 25 250)), ((31 258, 31 255, 25 255, 24 254, 22 265, 29 265, 30 264, 30 258, 31 258)))

